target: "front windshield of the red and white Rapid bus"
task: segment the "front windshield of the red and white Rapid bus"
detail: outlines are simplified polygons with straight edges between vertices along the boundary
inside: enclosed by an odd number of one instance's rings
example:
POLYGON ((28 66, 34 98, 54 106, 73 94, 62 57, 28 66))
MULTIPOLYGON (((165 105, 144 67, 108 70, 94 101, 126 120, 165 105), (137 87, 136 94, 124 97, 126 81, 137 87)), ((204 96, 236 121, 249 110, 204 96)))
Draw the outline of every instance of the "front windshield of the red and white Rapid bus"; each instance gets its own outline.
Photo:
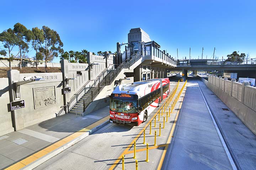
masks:
POLYGON ((121 113, 138 113, 137 100, 111 98, 110 110, 121 113))

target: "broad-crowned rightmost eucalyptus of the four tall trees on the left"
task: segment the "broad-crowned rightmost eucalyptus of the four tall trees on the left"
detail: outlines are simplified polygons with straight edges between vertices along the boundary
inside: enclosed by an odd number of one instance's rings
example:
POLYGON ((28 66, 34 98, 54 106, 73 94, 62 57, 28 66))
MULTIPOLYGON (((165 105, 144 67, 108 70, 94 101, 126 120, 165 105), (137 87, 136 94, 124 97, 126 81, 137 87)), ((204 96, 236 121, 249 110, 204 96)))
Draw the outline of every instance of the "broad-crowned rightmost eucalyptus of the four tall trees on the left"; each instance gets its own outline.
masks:
POLYGON ((59 53, 63 53, 63 43, 60 40, 59 34, 47 26, 43 26, 44 42, 40 47, 40 52, 44 54, 45 70, 47 61, 52 61, 54 57, 58 57, 59 53))

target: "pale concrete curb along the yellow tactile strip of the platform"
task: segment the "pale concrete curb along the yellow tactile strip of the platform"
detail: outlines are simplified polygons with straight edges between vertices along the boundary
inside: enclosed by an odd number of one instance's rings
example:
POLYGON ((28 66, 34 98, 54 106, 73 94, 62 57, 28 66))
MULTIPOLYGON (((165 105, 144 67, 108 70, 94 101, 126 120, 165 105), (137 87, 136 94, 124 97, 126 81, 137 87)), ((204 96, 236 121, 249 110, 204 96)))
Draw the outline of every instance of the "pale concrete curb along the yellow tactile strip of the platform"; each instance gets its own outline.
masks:
POLYGON ((87 136, 89 136, 90 134, 94 133, 95 131, 101 129, 103 126, 107 125, 109 123, 109 120, 104 121, 102 124, 95 126, 94 128, 92 128, 90 130, 90 132, 85 132, 84 134, 80 135, 79 137, 75 138, 74 140, 64 144, 63 146, 55 149, 54 151, 44 155, 43 157, 35 160, 34 162, 28 164, 27 166, 24 166, 23 168, 21 168, 21 170, 31 170, 33 168, 36 168, 37 166, 41 165, 42 163, 46 162, 47 160, 49 160, 50 158, 54 157, 55 155, 59 154, 62 151, 65 151, 65 149, 69 148, 70 146, 74 145, 75 143, 83 140, 84 138, 86 138, 87 136))

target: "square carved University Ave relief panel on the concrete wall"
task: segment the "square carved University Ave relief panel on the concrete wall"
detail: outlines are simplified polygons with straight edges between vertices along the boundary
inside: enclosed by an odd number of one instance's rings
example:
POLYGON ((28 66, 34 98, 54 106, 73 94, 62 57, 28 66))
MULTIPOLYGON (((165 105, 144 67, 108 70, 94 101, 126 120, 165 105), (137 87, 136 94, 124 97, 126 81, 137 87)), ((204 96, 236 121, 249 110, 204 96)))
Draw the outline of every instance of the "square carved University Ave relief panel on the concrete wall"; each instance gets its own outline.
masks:
POLYGON ((34 108, 56 104, 55 86, 33 88, 34 108))

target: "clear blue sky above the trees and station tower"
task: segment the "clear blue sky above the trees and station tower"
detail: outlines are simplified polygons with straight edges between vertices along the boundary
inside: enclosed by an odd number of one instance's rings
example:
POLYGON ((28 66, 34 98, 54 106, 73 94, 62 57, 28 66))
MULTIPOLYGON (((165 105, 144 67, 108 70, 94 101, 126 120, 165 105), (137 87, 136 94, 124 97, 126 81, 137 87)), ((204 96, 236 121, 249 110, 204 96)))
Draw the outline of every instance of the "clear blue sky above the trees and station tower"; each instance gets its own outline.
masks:
MULTIPOLYGON (((239 51, 256 58, 255 0, 12 0, 1 2, 0 32, 20 22, 56 30, 64 51, 116 51, 131 28, 142 28, 171 56, 220 58, 239 51)), ((2 45, 0 45, 2 48, 2 45)), ((15 53, 15 52, 13 52, 15 53)), ((34 51, 28 53, 34 56, 34 51)), ((59 62, 55 58, 54 62, 59 62)))

